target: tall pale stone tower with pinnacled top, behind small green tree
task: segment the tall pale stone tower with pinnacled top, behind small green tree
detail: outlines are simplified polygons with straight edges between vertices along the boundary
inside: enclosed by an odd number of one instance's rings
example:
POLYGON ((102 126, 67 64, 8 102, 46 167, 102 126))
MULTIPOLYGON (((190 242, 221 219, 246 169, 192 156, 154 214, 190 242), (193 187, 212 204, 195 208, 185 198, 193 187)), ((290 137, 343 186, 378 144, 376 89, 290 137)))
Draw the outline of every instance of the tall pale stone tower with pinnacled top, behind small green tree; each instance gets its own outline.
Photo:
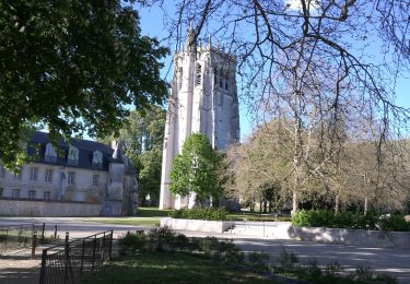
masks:
POLYGON ((174 55, 174 76, 165 125, 160 209, 191 206, 188 197, 173 198, 169 171, 174 156, 191 133, 208 137, 214 149, 224 150, 239 140, 236 61, 210 40, 202 47, 190 28, 180 52, 174 55))

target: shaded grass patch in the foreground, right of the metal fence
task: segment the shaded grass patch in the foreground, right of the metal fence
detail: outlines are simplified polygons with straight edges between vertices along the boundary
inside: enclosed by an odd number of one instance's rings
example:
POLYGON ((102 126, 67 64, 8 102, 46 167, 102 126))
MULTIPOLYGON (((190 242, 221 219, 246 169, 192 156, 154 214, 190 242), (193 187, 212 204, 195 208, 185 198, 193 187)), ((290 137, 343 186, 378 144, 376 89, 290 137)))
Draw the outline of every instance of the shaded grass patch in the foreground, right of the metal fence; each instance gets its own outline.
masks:
POLYGON ((121 257, 85 283, 272 283, 253 272, 187 253, 142 251, 121 257))

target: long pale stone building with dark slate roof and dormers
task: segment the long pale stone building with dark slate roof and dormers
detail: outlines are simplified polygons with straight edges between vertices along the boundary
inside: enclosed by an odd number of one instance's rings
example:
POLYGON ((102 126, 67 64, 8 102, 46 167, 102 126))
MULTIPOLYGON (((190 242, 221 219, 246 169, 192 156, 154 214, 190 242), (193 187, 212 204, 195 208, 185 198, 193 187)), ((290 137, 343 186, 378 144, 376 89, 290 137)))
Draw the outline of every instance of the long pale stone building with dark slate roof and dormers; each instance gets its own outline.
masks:
MULTIPOLYGON (((79 204, 72 205, 77 214, 94 214, 96 206, 99 215, 132 214, 137 209, 136 171, 118 150, 120 145, 110 149, 85 140, 71 143, 61 142, 56 151, 46 133, 35 132, 31 144, 37 146, 27 149, 28 155, 36 153, 35 162, 24 165, 20 175, 0 166, 0 200, 19 201, 13 208, 19 208, 21 215, 34 206, 35 215, 58 216, 59 212, 50 214, 50 209, 58 209, 58 204, 69 208, 70 202, 79 204), (56 204, 43 205, 39 201, 56 204)), ((13 211, 13 215, 20 213, 13 211)), ((60 213, 61 216, 69 214, 60 213)))

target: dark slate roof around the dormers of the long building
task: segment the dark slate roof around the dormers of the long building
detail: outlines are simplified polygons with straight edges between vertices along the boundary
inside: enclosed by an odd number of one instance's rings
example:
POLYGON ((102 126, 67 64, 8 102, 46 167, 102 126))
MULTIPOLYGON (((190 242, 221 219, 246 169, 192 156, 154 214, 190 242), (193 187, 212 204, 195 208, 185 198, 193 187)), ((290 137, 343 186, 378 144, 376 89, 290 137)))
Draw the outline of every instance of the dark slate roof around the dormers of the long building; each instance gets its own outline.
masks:
MULTIPOLYGON (((69 165, 67 162, 68 151, 70 145, 63 141, 62 139, 59 140, 58 144, 60 147, 61 153, 63 156, 58 156, 57 161, 55 162, 47 162, 45 159, 45 152, 46 145, 49 143, 48 134, 40 131, 35 131, 30 139, 27 145, 27 154, 30 156, 35 156, 37 153, 37 157, 35 159, 36 163, 45 163, 45 164, 54 164, 54 165, 66 165, 69 167, 80 167, 80 168, 87 168, 87 169, 99 169, 99 170, 108 170, 109 163, 112 162, 112 155, 114 150, 99 142, 90 141, 90 140, 82 140, 82 139, 73 139, 70 138, 70 144, 79 150, 79 164, 78 165, 69 165), (92 164, 93 161, 93 153, 94 151, 99 151, 103 153, 103 165, 101 167, 95 167, 92 164)), ((118 163, 118 162, 117 162, 118 163)))

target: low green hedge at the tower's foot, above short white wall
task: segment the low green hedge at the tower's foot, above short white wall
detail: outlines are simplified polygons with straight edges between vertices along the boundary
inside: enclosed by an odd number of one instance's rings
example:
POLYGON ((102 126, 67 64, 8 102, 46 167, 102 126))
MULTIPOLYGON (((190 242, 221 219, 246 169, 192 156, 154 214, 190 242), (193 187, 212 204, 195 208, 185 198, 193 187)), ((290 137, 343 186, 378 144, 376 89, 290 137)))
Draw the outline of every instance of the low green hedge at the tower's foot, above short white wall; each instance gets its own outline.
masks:
POLYGON ((169 213, 173 218, 225 221, 230 212, 224 208, 180 209, 169 213))

